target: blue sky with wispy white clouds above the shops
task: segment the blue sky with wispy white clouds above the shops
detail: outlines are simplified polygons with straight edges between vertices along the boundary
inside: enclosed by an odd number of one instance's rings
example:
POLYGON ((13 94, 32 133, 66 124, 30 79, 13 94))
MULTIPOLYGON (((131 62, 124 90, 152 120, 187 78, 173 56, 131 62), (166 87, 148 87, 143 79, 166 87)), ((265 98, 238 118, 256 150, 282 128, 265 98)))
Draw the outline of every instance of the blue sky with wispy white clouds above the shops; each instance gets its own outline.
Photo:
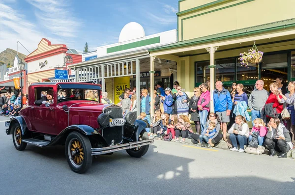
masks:
POLYGON ((0 0, 0 52, 17 40, 32 52, 42 38, 78 52, 88 42, 92 51, 117 43, 129 22, 146 35, 176 29, 177 11, 178 0, 0 0))

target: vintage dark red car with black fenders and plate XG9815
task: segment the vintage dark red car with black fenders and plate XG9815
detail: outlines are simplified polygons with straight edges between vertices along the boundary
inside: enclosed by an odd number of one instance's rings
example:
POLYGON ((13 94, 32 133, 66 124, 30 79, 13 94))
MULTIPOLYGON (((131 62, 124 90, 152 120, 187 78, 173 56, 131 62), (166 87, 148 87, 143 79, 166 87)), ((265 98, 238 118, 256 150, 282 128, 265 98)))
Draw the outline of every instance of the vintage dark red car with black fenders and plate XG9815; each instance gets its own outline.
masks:
POLYGON ((12 135, 17 150, 28 143, 65 145, 67 162, 77 173, 89 169, 95 155, 120 150, 132 157, 145 155, 153 143, 145 130, 148 123, 133 112, 123 118, 120 107, 100 103, 100 94, 98 84, 31 84, 29 106, 6 124, 6 134, 12 135))

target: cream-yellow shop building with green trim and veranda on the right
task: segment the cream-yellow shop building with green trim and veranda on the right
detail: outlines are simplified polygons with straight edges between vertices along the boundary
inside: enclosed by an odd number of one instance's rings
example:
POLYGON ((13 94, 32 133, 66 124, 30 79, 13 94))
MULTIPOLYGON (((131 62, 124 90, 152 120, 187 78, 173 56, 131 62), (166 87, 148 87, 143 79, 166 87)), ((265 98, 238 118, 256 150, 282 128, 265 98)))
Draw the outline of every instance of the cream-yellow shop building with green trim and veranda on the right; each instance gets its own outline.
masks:
MULTIPOLYGON (((294 81, 293 6, 293 0, 179 0, 178 42, 150 49, 150 56, 176 60, 177 81, 190 96, 208 80, 211 98, 216 81, 225 87, 242 83, 248 93, 258 79, 267 90, 278 76, 294 81), (267 11, 261 14, 262 9, 267 11), (240 53, 252 49, 254 41, 264 52, 263 62, 241 66, 240 53)), ((213 99, 210 106, 213 110, 213 99)))

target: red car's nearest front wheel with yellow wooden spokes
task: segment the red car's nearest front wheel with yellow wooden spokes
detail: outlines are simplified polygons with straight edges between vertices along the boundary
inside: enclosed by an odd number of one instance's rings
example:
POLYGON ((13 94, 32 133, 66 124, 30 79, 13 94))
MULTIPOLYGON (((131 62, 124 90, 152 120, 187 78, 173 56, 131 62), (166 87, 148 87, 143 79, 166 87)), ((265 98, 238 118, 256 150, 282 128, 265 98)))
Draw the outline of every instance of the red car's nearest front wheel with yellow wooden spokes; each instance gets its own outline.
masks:
POLYGON ((65 141, 66 160, 76 173, 84 173, 92 163, 89 138, 78 132, 72 132, 65 141))

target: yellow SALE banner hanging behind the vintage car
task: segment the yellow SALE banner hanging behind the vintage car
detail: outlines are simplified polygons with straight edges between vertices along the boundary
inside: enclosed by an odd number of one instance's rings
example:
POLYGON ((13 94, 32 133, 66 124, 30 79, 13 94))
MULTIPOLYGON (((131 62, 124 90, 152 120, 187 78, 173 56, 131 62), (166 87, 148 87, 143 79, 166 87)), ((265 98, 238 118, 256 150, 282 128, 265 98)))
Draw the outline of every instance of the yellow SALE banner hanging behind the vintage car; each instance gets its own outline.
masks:
POLYGON ((130 77, 114 78, 114 104, 120 102, 119 96, 124 92, 125 88, 130 88, 130 77))

